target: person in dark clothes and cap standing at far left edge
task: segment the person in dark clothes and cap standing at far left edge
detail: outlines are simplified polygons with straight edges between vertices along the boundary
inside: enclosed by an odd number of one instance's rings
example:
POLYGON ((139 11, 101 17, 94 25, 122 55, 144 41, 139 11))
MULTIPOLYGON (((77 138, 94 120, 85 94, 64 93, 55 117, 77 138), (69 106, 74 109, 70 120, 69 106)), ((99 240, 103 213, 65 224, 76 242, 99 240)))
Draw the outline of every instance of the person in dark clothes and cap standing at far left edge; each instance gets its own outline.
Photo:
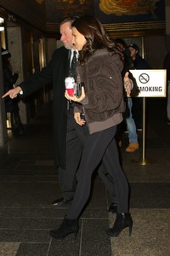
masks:
MULTIPOLYGON (((14 84, 19 78, 19 72, 13 73, 12 66, 10 63, 11 54, 8 49, 1 49, 2 61, 3 61, 3 85, 4 92, 14 89, 14 84)), ((6 113, 11 113, 11 125, 12 130, 19 135, 24 135, 26 131, 20 120, 20 108, 18 106, 19 97, 11 99, 9 96, 5 99, 5 110, 6 113), (14 122, 13 122, 14 118, 14 122)))

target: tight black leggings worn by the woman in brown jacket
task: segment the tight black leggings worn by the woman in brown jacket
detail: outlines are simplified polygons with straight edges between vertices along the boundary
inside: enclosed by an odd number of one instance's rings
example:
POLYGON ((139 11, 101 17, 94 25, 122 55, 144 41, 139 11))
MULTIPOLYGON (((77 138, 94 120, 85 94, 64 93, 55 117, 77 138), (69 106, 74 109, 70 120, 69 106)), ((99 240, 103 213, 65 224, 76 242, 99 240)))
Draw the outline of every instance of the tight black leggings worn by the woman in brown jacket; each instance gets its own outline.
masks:
POLYGON ((107 163, 107 172, 115 180, 117 212, 128 212, 128 183, 122 172, 115 142, 116 126, 89 135, 85 143, 82 160, 77 171, 77 190, 67 218, 78 218, 88 201, 91 177, 101 160, 107 163))

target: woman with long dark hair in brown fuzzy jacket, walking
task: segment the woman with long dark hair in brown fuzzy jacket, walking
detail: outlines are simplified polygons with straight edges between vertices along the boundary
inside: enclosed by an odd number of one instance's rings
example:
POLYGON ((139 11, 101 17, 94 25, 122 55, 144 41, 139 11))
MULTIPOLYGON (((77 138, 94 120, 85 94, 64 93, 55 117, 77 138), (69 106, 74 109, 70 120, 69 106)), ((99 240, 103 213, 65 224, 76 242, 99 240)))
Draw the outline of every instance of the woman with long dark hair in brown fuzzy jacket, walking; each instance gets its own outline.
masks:
POLYGON ((76 102, 75 119, 84 125, 84 113, 89 136, 77 171, 77 190, 71 208, 58 230, 51 230, 50 236, 63 239, 79 229, 78 218, 88 201, 91 177, 101 161, 108 166, 107 172, 116 183, 117 214, 113 228, 106 230, 110 236, 118 236, 129 227, 131 234, 133 220, 128 209, 128 183, 122 172, 115 142, 116 125, 122 122, 125 110, 123 101, 122 68, 123 56, 117 46, 105 34, 99 20, 82 16, 72 24, 73 44, 79 51, 77 76, 81 79, 82 96, 69 96, 76 102))

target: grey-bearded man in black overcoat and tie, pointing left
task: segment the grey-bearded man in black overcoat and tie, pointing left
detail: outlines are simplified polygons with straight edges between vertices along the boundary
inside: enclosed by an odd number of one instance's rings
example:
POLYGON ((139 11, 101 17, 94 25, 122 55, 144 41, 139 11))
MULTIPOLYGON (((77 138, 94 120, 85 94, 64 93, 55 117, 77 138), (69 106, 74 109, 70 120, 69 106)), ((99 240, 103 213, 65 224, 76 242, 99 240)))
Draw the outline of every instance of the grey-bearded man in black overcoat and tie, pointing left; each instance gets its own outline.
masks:
MULTIPOLYGON (((83 143, 88 132, 86 125, 77 125, 73 117, 73 109, 65 99, 65 78, 69 75, 71 63, 72 45, 71 23, 74 18, 68 18, 60 24, 60 40, 64 46, 55 49, 51 61, 40 72, 34 73, 22 84, 9 90, 3 97, 10 96, 26 97, 45 84, 53 81, 54 101, 54 154, 56 165, 59 166, 59 186, 62 198, 55 200, 52 204, 62 206, 72 201, 76 187, 76 172, 81 159, 83 143)), ((129 79, 127 84, 130 84, 129 79)), ((128 88, 128 86, 127 86, 128 88)), ((128 90, 128 89, 127 89, 128 90)), ((108 177, 105 166, 99 168, 99 176, 105 183, 111 195, 110 212, 116 212, 116 193, 114 182, 108 177)))

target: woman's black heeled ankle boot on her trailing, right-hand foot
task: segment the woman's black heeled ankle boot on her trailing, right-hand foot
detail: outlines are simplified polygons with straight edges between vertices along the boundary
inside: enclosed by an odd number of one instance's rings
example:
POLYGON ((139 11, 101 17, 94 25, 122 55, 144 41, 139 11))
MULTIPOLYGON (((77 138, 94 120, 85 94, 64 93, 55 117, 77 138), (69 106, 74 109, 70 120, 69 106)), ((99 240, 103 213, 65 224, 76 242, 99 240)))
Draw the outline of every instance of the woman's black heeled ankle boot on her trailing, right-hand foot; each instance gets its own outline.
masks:
POLYGON ((133 219, 130 213, 117 213, 116 214, 116 221, 113 228, 106 230, 106 234, 109 236, 119 236, 119 234, 125 228, 129 228, 129 236, 131 236, 132 229, 133 229, 133 219))

